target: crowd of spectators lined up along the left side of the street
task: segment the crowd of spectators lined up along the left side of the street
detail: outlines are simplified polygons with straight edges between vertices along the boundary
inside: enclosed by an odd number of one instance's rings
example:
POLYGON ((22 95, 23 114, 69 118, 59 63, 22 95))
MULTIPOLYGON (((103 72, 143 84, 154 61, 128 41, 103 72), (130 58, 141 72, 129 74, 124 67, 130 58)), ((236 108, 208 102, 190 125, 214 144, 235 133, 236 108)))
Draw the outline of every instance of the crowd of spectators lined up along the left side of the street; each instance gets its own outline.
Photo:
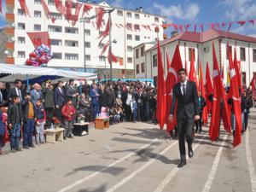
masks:
POLYGON ((12 152, 34 148, 33 135, 37 145, 43 144, 45 130, 54 125, 65 127, 64 139, 73 138, 73 123, 80 118, 92 122, 106 114, 110 125, 124 121, 157 124, 154 85, 139 81, 93 80, 78 85, 73 79, 66 84, 47 80, 27 87, 15 79, 13 86, 0 82, 0 107, 8 107, 0 114, 0 143, 9 137, 12 152))

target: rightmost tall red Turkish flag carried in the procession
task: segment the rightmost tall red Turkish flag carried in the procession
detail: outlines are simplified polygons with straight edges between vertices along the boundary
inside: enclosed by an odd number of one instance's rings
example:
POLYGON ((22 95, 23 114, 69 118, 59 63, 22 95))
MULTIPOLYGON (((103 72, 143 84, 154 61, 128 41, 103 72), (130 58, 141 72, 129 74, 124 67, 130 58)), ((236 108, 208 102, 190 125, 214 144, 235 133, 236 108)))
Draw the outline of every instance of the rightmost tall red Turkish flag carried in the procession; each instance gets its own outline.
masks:
MULTIPOLYGON (((229 47, 229 43, 228 43, 229 47)), ((236 119, 236 131, 233 146, 236 147, 241 143, 241 97, 239 94, 238 86, 238 73, 236 73, 235 65, 232 61, 230 49, 228 49, 229 62, 230 62, 230 96, 232 98, 232 107, 236 119)), ((236 55, 236 52, 235 52, 236 55)), ((236 62, 236 56, 235 56, 236 62)))

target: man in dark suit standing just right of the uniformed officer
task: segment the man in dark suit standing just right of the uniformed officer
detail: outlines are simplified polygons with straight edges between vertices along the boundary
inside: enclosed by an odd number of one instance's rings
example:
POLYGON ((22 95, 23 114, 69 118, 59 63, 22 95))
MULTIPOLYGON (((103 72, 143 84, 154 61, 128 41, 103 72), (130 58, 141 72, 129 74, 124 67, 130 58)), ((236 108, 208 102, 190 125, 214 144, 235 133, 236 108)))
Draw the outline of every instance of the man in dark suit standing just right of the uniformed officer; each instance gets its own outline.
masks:
POLYGON ((64 90, 62 89, 63 82, 58 81, 58 86, 55 88, 55 112, 58 120, 62 120, 61 108, 64 104, 64 90))

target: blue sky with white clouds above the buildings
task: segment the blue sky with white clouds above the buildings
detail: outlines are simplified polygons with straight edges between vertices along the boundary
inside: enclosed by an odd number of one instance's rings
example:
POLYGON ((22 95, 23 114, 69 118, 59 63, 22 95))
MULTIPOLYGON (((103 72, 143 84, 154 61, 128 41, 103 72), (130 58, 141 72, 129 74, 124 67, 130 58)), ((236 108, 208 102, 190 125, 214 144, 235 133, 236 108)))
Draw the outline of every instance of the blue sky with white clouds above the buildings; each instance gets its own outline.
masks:
MULTIPOLYGON (((32 1, 32 0, 26 0, 32 1)), ((102 1, 96 1, 100 3, 102 1)), ((167 23, 194 24, 222 23, 237 20, 255 20, 254 26, 247 23, 245 26, 233 24, 230 31, 256 37, 256 1, 255 0, 107 0, 107 3, 126 9, 143 7, 143 11, 166 16, 167 23)), ((3 0, 4 9, 5 0, 3 0)), ((0 26, 5 25, 4 15, 0 15, 0 26)), ((204 26, 205 30, 209 26, 204 26)), ((171 33, 172 28, 166 32, 171 33)))

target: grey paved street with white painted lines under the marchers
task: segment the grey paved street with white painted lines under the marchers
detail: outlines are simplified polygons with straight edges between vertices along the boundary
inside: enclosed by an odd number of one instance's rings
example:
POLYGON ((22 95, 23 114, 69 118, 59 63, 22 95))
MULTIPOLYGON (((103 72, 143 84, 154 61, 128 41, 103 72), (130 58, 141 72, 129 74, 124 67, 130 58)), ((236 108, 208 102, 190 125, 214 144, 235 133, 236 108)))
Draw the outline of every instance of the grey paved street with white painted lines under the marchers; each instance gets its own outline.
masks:
POLYGON ((0 191, 256 192, 255 138, 256 119, 238 148, 224 131, 210 142, 205 127, 195 137, 195 156, 178 169, 177 140, 157 125, 92 129, 89 136, 1 155, 0 191))

